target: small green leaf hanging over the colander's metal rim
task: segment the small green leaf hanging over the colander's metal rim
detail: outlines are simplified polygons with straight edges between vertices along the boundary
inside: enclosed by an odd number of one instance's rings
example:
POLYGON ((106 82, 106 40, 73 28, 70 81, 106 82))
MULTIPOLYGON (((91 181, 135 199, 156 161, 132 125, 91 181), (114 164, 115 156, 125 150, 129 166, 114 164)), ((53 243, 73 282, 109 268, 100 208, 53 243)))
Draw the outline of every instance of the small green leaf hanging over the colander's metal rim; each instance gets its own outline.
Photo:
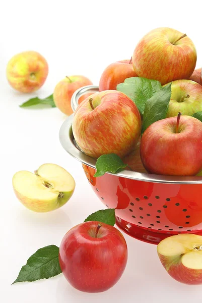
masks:
POLYGON ((126 166, 127 164, 124 164, 116 154, 102 155, 96 161, 97 172, 94 177, 103 176, 106 172, 116 173, 126 166))

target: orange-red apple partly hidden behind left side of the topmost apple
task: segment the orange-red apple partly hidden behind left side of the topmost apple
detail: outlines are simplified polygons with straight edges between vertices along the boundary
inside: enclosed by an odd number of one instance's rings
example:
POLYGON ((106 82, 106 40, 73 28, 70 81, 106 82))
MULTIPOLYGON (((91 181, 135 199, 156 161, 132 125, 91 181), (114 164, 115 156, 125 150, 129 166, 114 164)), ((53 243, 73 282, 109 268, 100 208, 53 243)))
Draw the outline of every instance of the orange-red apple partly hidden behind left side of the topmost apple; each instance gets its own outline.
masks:
POLYGON ((99 91, 116 90, 116 86, 123 83, 126 78, 137 77, 132 63, 129 62, 130 60, 121 60, 107 66, 100 78, 99 91))

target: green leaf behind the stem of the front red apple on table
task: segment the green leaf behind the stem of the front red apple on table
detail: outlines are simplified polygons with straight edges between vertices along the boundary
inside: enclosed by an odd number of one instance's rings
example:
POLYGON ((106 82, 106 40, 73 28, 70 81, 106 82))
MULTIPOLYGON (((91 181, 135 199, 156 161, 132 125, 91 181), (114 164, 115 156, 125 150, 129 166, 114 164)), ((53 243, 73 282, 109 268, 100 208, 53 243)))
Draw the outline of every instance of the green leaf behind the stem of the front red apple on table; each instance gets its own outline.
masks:
POLYGON ((88 216, 88 218, 86 218, 86 220, 84 222, 87 222, 87 221, 98 221, 98 222, 102 222, 102 223, 114 226, 115 209, 97 211, 97 212, 91 214, 90 216, 88 216))

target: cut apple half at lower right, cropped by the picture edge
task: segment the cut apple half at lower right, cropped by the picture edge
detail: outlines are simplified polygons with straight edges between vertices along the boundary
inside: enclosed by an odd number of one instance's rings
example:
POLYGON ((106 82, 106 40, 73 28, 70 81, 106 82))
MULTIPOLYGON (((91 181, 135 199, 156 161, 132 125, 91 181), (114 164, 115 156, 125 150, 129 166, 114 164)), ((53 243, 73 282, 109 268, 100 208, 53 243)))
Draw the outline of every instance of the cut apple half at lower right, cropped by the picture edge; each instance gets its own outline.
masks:
POLYGON ((162 265, 175 280, 202 284, 202 236, 170 236, 158 244, 157 252, 162 265))

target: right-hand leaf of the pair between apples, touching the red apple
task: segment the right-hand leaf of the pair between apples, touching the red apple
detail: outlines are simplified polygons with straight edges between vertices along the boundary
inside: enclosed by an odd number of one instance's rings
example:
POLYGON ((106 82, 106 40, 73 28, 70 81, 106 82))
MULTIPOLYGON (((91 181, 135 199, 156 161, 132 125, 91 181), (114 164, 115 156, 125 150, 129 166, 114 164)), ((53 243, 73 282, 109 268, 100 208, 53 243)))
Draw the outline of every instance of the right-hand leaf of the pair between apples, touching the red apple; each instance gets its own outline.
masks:
POLYGON ((171 84, 159 89, 145 104, 142 133, 154 122, 165 119, 171 97, 171 84))

